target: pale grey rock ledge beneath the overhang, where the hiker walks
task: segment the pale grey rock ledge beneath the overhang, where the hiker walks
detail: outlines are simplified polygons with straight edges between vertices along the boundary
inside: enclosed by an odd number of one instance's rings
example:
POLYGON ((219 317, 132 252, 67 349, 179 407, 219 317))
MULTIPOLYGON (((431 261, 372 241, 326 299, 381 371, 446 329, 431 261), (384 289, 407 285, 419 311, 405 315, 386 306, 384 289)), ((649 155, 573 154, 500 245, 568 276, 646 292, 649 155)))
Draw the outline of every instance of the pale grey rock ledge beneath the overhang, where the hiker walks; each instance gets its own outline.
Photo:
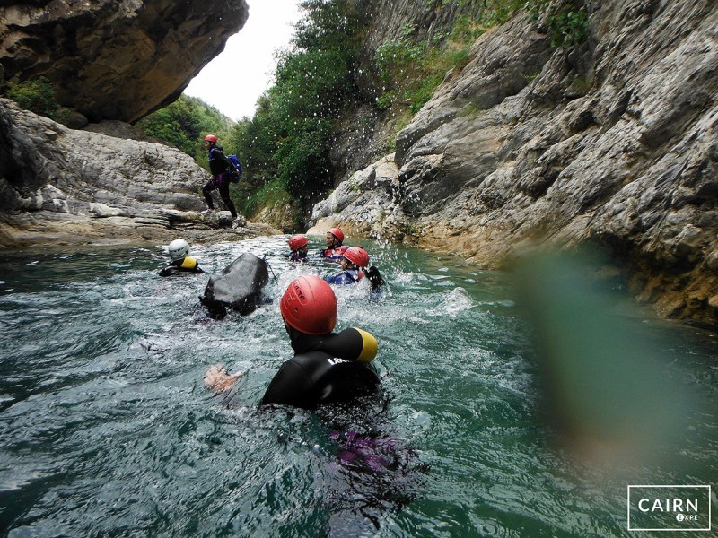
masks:
POLYGON ((0 99, 0 247, 277 232, 232 229, 222 212, 202 213, 209 176, 186 153, 122 137, 130 126, 101 130, 114 135, 68 129, 0 99))

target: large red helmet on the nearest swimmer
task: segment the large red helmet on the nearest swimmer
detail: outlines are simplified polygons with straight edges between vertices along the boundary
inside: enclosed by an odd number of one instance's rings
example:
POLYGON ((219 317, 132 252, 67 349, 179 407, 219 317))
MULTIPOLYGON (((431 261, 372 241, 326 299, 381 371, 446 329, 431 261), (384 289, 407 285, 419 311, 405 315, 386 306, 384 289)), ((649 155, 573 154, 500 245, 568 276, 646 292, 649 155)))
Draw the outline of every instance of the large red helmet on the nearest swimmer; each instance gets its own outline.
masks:
POLYGON ((331 333, 337 326, 337 297, 319 276, 294 279, 279 301, 287 325, 306 334, 331 333))

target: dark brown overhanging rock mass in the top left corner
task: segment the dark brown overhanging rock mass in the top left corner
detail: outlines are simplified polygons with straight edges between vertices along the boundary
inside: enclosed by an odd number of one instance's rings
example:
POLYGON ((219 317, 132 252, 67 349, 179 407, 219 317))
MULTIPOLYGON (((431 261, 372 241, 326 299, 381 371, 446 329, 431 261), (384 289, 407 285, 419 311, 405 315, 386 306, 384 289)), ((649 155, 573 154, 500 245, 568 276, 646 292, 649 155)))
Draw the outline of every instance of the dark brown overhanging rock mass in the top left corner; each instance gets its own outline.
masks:
POLYGON ((244 0, 7 0, 4 82, 44 76, 92 122, 133 123, 176 100, 248 13, 244 0))

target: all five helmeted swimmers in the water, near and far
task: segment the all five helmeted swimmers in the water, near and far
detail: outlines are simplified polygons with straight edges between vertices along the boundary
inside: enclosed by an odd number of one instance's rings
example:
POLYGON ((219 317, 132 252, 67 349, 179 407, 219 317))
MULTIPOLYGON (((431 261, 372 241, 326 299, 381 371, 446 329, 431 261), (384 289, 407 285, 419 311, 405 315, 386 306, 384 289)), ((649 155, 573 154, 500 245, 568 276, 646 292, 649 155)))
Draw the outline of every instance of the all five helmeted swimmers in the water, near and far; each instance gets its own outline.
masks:
MULTIPOLYGON (((290 282, 279 302, 279 311, 289 334, 294 355, 286 360, 267 387, 261 404, 284 404, 313 409, 320 404, 346 402, 370 395, 379 386, 372 366, 378 344, 372 334, 359 328, 334 333, 337 325, 337 297, 329 283, 345 284, 361 280, 369 271, 369 255, 361 247, 343 246, 344 233, 333 228, 327 233, 324 259, 340 261, 342 273, 327 279, 302 275, 290 282)), ((308 257, 304 236, 289 239, 290 259, 302 262, 308 257)), ((205 273, 189 256, 189 245, 175 239, 168 246, 170 265, 162 276, 177 273, 205 273)), ((378 272, 376 272, 378 274, 378 272)), ((381 279, 381 276, 380 276, 381 279)), ((373 288, 373 284, 372 284, 373 288)), ((230 375, 221 365, 206 370, 205 386, 220 394, 231 390, 244 372, 230 375)))

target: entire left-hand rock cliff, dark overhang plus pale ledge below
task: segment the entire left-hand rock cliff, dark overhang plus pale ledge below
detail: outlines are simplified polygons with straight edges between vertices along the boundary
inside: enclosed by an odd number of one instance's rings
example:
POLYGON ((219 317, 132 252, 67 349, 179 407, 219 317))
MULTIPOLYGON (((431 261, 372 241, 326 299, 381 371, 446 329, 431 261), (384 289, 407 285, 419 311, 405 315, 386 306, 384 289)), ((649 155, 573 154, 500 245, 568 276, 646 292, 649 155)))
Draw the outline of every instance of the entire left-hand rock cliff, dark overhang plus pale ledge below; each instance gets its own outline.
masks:
POLYGON ((0 2, 0 84, 44 76, 94 122, 68 129, 0 99, 0 247, 276 232, 201 213, 205 170, 125 123, 175 100, 248 13, 244 0, 0 2))

